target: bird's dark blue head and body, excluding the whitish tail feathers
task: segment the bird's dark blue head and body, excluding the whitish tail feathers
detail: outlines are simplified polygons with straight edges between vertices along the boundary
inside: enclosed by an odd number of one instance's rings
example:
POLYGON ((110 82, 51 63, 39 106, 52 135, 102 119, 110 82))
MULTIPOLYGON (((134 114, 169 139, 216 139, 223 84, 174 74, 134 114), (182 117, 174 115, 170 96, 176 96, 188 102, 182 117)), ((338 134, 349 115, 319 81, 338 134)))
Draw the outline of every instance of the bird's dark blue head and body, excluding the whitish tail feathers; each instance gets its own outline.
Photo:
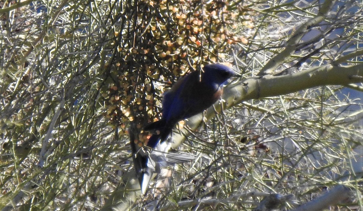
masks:
POLYGON ((162 119, 152 122, 144 130, 158 130, 148 141, 154 148, 160 139, 165 141, 180 120, 201 113, 217 102, 223 94, 223 85, 231 77, 239 77, 231 68, 216 63, 204 66, 204 72, 194 71, 178 80, 164 93, 162 119))

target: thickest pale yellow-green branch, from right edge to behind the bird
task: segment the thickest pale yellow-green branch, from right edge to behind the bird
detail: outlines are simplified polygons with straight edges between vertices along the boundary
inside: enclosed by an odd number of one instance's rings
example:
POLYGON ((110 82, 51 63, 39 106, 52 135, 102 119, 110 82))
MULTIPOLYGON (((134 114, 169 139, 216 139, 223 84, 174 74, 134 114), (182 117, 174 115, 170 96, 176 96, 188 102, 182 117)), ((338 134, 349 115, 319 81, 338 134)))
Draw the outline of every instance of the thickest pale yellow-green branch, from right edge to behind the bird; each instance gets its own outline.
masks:
MULTIPOLYGON (((228 109, 242 101, 298 92, 316 86, 350 85, 362 82, 362 78, 363 64, 348 67, 325 65, 284 76, 265 75, 248 78, 244 83, 227 86, 224 89, 222 106, 223 109, 228 109)), ((220 103, 215 104, 214 109, 207 110, 205 117, 211 119, 215 115, 215 110, 220 112, 222 106, 220 103)), ((195 130, 202 119, 202 114, 189 118, 187 126, 195 130)), ((173 147, 178 147, 187 135, 189 133, 185 129, 180 130, 180 133, 174 133, 173 147)))

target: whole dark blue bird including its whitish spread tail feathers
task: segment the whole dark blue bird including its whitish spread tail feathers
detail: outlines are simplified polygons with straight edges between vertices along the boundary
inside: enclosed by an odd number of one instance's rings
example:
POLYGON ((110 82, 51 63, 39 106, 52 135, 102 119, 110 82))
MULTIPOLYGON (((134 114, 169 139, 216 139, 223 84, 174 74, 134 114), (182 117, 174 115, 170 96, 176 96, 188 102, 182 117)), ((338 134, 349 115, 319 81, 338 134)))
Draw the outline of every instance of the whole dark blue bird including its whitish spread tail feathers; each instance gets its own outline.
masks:
POLYGON ((158 173, 160 168, 174 163, 195 159, 195 156, 185 153, 167 153, 171 147, 171 142, 167 140, 176 123, 215 104, 223 94, 223 86, 231 77, 240 75, 224 64, 208 64, 202 72, 194 71, 180 78, 164 93, 162 118, 143 128, 144 131, 154 131, 147 142, 147 147, 153 150, 139 156, 141 163, 139 162, 138 175, 143 194, 146 193, 152 173, 158 173))

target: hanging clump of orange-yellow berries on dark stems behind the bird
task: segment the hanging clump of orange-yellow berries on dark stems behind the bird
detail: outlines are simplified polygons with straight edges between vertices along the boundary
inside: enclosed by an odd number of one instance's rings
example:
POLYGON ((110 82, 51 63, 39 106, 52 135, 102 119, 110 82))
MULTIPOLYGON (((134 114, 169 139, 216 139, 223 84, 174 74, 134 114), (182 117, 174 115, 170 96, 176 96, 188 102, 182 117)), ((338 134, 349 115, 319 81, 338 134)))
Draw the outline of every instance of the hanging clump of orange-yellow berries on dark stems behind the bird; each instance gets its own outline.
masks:
MULTIPOLYGON (((128 16, 115 37, 117 62, 102 93, 105 116, 127 133, 125 124, 137 121, 138 129, 161 111, 164 88, 204 64, 221 61, 236 42, 248 43, 238 33, 253 28, 248 9, 229 1, 145 0, 128 16), (121 37, 120 37, 121 36, 121 37)), ((141 134, 135 143, 147 142, 141 134)))

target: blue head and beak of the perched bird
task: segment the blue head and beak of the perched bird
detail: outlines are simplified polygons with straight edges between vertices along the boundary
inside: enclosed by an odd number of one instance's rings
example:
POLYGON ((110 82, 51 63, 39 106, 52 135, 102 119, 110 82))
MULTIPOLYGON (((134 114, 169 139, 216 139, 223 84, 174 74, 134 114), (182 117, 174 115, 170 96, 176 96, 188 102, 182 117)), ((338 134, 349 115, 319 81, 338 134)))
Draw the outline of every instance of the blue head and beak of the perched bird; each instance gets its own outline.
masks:
POLYGON ((211 85, 221 86, 227 83, 227 80, 231 77, 240 77, 231 68, 223 64, 209 64, 205 65, 204 74, 202 76, 202 81, 206 83, 211 83, 211 85))

